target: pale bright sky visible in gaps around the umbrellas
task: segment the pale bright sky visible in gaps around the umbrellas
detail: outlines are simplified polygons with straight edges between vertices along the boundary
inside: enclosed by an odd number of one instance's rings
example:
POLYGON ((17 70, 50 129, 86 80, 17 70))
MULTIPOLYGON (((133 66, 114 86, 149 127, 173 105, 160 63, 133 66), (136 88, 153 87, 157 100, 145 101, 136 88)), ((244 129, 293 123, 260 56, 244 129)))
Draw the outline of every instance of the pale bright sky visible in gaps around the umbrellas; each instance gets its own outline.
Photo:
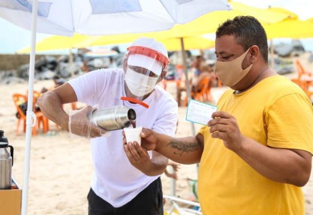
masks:
MULTIPOLYGON (((267 8, 283 7, 296 14, 301 20, 313 17, 313 0, 234 0, 246 5, 267 8)), ((30 31, 20 28, 2 18, 0 18, 0 53, 13 54, 23 47, 30 45, 30 31)), ((37 41, 50 37, 48 34, 37 33, 37 41)), ((289 42, 286 39, 276 39, 274 43, 289 42)), ((313 51, 313 39, 301 40, 306 50, 313 51)), ((122 48, 123 49, 123 48, 122 48)), ((66 52, 67 53, 67 52, 66 52)))

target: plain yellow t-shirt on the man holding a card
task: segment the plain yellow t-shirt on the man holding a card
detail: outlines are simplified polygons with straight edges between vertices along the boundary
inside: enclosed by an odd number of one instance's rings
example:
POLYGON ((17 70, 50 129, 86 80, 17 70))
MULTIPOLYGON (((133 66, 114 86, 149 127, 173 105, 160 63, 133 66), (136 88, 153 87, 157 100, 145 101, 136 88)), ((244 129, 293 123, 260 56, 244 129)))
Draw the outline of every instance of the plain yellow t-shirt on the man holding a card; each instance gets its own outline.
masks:
MULTIPOLYGON (((300 87, 271 76, 246 92, 233 92, 224 93, 218 108, 236 117, 243 135, 265 146, 313 153, 313 108, 300 87)), ((204 137, 198 181, 204 215, 304 214, 301 188, 262 176, 212 138, 208 127, 199 133, 204 137)))

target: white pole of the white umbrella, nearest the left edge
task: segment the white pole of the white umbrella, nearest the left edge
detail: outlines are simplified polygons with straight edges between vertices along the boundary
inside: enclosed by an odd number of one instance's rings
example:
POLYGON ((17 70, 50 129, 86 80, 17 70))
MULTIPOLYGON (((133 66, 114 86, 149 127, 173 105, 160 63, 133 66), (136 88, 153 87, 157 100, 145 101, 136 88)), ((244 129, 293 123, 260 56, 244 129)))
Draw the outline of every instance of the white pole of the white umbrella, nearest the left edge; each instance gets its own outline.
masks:
POLYGON ((35 47, 36 47, 36 29, 37 29, 37 11, 38 0, 33 0, 32 5, 32 24, 31 24, 31 51, 29 59, 29 79, 28 79, 28 101, 26 112, 26 136, 25 136, 25 155, 24 155, 24 175, 22 188, 22 215, 27 214, 28 186, 29 186, 29 165, 30 165, 30 145, 31 133, 36 116, 33 112, 33 90, 34 90, 34 72, 35 72, 35 47))

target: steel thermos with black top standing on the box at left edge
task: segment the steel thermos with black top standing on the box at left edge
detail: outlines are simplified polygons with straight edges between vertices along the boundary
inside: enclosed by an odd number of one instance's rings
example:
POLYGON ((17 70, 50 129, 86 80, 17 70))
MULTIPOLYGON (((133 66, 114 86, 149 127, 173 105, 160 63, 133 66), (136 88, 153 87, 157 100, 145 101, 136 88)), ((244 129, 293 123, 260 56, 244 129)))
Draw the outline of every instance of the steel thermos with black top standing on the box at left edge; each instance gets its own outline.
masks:
POLYGON ((13 147, 9 146, 8 139, 4 136, 4 131, 0 130, 0 190, 11 189, 13 151, 13 147))

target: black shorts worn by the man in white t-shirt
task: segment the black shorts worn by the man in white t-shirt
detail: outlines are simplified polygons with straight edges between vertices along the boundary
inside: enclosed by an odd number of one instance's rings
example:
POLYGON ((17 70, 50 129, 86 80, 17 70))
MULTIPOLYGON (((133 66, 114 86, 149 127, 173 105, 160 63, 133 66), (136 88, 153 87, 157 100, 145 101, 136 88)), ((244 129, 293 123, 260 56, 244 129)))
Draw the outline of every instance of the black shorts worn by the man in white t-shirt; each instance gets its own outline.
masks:
POLYGON ((90 188, 88 198, 89 215, 163 215, 161 179, 152 182, 126 205, 114 208, 97 196, 90 188))

